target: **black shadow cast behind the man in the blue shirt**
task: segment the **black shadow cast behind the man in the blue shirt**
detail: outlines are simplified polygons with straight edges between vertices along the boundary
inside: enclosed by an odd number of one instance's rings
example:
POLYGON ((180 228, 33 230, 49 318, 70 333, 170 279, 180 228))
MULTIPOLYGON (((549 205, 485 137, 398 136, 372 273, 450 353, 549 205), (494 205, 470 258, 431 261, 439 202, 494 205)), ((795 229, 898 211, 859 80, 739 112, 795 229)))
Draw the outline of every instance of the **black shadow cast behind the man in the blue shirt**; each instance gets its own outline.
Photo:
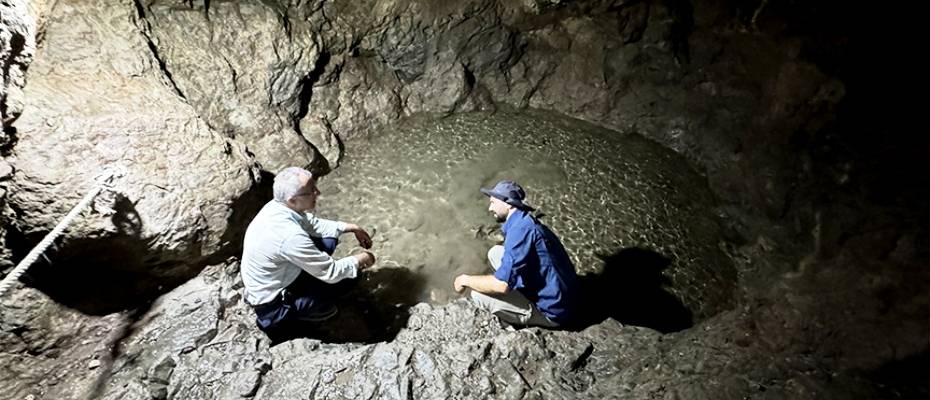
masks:
POLYGON ((670 284, 662 274, 671 264, 667 257, 635 247, 599 257, 604 260, 601 273, 580 277, 584 311, 575 329, 587 328, 607 318, 662 333, 693 325, 691 311, 665 290, 670 284))

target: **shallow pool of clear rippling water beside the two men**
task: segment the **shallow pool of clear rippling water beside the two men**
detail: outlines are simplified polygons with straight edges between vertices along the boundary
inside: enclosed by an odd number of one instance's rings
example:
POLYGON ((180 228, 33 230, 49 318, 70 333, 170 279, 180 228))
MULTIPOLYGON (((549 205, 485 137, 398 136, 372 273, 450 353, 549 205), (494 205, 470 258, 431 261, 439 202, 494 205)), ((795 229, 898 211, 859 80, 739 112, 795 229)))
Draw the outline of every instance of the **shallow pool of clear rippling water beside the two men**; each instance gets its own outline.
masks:
POLYGON ((441 304, 457 297, 457 274, 489 272, 501 236, 478 188, 513 179, 584 275, 585 325, 610 316, 676 331, 732 305, 736 273, 705 180, 638 135, 537 111, 468 113, 415 116, 346 147, 319 184, 317 214, 374 234, 378 264, 362 281, 384 271, 423 280, 419 292, 390 281, 376 290, 441 304))

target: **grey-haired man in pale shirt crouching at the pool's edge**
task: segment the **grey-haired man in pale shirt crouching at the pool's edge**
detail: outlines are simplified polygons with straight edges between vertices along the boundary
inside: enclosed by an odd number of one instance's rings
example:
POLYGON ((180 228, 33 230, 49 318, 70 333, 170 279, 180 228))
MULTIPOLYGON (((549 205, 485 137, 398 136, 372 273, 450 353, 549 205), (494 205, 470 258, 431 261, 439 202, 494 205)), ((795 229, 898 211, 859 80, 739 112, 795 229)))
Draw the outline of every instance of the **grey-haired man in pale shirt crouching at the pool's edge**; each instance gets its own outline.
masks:
POLYGON ((317 218, 316 177, 303 168, 286 168, 275 177, 274 199, 259 211, 245 233, 242 281, 245 301, 255 308, 266 333, 283 332, 295 322, 321 322, 333 317, 332 285, 352 279, 375 257, 363 251, 339 260, 332 257, 338 237, 352 232, 359 245, 371 247, 371 236, 358 225, 317 218))

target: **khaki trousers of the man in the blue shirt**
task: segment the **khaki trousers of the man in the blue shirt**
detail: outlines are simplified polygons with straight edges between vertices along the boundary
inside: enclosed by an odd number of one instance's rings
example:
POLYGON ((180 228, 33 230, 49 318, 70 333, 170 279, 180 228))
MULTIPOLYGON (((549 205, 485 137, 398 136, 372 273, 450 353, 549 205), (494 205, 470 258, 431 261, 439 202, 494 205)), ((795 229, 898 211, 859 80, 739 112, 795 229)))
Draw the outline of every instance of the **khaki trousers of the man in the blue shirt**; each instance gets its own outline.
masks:
MULTIPOLYGON (((497 271, 501 266, 501 259, 504 257, 504 246, 494 246, 488 250, 488 261, 491 267, 497 271)), ((505 294, 484 294, 477 291, 471 291, 471 298, 479 307, 490 311, 501 321, 513 325, 532 325, 545 328, 555 328, 559 324, 552 322, 547 318, 536 305, 523 296, 517 290, 510 290, 505 294)))

